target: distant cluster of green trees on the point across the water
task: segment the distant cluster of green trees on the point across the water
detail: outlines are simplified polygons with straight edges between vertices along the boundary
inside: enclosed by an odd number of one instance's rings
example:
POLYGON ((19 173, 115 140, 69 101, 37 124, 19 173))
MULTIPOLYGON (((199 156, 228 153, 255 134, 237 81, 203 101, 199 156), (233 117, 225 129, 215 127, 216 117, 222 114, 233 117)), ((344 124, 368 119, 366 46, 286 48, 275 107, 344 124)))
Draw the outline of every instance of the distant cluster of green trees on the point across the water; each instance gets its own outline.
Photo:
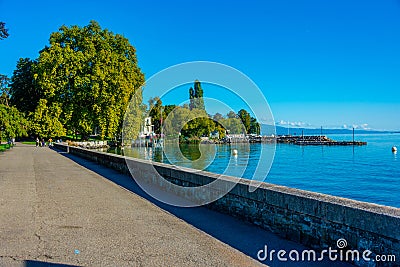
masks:
POLYGON ((193 87, 189 89, 189 104, 163 106, 159 97, 149 100, 149 116, 156 134, 179 136, 181 141, 198 140, 211 133, 218 138, 224 138, 226 134, 260 134, 260 124, 245 109, 238 113, 230 111, 225 116, 208 114, 200 81, 195 80, 193 87))

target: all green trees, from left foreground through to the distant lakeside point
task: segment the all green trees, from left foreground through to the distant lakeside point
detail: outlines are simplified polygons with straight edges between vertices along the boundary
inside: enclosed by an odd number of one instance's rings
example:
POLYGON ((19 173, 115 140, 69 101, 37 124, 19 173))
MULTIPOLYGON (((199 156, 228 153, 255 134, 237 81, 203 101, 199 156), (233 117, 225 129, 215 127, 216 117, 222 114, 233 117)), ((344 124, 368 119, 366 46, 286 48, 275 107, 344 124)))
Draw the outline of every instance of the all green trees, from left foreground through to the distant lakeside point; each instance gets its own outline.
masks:
MULTIPOLYGON (((0 22, 0 39, 8 36, 0 22)), ((38 58, 20 58, 11 78, 0 75, 0 137, 79 134, 85 139, 98 134, 101 139, 123 135, 132 140, 146 111, 158 134, 162 125, 165 133, 181 138, 260 133, 257 120, 244 109, 226 116, 207 114, 198 80, 189 89, 189 104, 164 106, 154 98, 147 109, 144 81, 136 50, 122 35, 96 21, 84 27, 61 26, 38 58)))

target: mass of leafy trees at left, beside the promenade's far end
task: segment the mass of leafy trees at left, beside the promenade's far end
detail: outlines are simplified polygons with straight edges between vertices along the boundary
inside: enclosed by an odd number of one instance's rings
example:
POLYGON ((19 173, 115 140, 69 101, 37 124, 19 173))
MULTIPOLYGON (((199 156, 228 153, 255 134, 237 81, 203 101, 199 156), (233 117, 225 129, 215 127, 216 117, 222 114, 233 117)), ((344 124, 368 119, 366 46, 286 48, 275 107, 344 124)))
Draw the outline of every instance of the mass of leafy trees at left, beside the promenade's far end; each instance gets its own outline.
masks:
MULTIPOLYGON (((8 37, 0 23, 0 38, 8 37)), ((87 26, 62 26, 36 59, 21 58, 11 78, 0 76, 2 137, 43 138, 98 133, 120 135, 129 110, 132 138, 139 133, 144 74, 136 50, 120 34, 87 26), (135 96, 135 104, 129 105, 135 96)))

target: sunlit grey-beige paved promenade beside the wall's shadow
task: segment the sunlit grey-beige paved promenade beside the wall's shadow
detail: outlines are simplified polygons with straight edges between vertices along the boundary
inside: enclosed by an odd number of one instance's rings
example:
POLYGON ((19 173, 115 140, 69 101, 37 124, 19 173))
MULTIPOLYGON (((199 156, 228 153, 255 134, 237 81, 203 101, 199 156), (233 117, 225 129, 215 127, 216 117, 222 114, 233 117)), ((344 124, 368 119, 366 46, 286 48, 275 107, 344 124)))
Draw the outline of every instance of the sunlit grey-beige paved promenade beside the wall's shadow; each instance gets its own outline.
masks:
POLYGON ((0 191, 0 266, 259 265, 49 148, 0 154, 0 191))

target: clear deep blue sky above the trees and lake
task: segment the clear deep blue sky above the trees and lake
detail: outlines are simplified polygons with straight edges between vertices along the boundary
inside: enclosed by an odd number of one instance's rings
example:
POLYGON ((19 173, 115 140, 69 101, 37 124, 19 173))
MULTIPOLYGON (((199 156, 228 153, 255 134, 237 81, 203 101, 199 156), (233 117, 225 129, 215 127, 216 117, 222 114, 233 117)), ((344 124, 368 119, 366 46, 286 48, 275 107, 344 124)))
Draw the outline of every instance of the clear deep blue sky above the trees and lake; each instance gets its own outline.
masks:
POLYGON ((182 62, 220 62, 258 85, 282 125, 400 129, 399 0, 0 0, 0 9, 10 29, 3 74, 36 58, 61 25, 94 19, 130 40, 146 78, 182 62))

